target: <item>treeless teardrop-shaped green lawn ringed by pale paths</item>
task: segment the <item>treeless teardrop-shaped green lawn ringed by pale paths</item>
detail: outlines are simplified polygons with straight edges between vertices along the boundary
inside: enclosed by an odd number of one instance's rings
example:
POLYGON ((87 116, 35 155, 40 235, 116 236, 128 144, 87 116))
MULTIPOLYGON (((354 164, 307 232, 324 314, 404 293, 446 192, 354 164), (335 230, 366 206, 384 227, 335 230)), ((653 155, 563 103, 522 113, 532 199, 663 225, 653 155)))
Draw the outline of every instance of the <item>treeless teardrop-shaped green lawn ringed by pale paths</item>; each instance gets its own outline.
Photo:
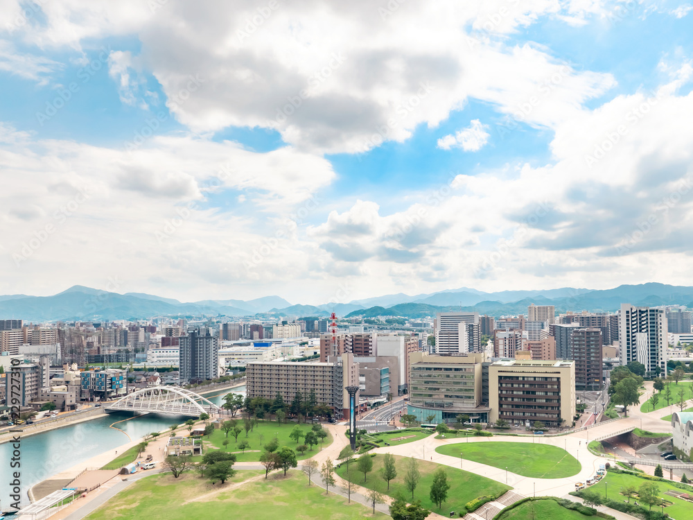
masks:
POLYGON ((580 463, 568 451, 529 442, 473 442, 446 444, 438 453, 473 460, 532 478, 561 478, 578 474, 580 463))

